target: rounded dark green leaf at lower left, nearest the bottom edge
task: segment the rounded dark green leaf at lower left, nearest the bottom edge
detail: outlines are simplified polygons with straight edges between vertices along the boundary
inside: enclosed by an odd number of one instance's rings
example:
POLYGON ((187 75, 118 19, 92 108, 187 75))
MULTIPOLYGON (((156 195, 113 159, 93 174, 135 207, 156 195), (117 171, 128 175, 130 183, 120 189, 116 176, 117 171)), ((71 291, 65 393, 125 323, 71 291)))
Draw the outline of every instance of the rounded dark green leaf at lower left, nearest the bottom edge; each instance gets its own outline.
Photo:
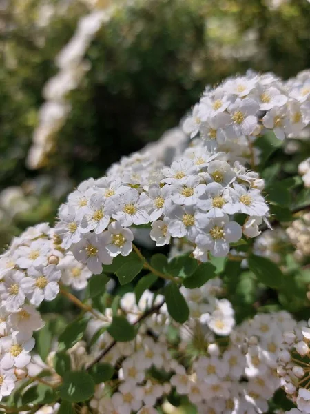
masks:
POLYGON ((85 371, 68 371, 59 386, 59 396, 69 402, 89 400, 94 395, 95 383, 85 371))

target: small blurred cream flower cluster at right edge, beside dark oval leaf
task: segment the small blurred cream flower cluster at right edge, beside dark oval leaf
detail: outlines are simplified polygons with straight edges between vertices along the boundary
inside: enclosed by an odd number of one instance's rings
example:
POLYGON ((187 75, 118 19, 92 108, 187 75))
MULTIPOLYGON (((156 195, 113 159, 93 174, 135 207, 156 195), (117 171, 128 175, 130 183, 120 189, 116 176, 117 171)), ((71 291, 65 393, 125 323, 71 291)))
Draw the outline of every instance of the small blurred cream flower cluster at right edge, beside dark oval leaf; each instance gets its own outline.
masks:
POLYGON ((287 228, 291 243, 296 246, 293 255, 298 261, 310 256, 310 213, 303 213, 287 228))

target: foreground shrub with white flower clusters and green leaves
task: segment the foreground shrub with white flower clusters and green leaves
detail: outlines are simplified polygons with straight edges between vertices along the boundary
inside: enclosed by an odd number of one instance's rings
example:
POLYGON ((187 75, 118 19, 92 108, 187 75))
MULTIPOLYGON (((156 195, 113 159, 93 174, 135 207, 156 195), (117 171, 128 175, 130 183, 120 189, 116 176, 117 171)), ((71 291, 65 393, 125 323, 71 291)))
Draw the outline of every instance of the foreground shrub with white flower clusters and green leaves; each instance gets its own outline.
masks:
POLYGON ((307 133, 309 85, 247 72, 207 88, 169 165, 123 157, 54 228, 12 240, 0 410, 310 413, 309 190, 266 166, 307 133), (60 297, 81 311, 69 324, 60 297))

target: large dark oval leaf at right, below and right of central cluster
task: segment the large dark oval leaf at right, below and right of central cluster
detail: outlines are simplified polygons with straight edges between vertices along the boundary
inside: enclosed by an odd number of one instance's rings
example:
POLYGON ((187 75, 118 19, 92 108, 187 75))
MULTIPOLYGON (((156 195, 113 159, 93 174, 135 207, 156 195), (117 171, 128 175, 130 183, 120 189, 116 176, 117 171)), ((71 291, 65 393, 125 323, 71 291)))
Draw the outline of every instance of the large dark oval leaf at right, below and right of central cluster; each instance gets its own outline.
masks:
POLYGON ((266 257, 251 255, 248 259, 250 270, 256 275, 259 282, 270 288, 280 288, 285 278, 276 264, 266 257))

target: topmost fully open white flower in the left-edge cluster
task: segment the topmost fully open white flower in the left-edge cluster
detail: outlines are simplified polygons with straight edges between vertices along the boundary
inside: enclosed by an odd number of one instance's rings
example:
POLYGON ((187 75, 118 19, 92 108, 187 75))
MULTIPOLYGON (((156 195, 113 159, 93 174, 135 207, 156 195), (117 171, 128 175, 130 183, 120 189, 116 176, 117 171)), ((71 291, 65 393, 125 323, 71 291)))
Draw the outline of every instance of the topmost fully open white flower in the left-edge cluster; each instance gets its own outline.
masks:
POLYGON ((48 253, 50 252, 50 242, 48 240, 34 240, 30 246, 21 246, 17 249, 17 264, 22 269, 30 266, 40 266, 48 263, 48 253))

